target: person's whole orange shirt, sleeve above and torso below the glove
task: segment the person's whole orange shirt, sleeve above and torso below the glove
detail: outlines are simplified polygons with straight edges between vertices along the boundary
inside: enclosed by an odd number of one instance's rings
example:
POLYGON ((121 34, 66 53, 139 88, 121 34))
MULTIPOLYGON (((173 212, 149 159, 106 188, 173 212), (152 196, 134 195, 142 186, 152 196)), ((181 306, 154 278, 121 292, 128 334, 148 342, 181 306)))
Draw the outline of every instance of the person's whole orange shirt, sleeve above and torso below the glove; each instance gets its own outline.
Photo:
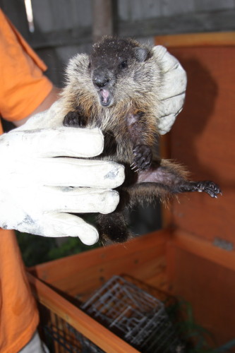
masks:
MULTIPOLYGON (((47 67, 1 10, 0 53, 0 115, 20 120, 43 102, 52 83, 42 73, 47 67)), ((14 232, 0 229, 0 352, 22 349, 37 324, 37 307, 14 232)))

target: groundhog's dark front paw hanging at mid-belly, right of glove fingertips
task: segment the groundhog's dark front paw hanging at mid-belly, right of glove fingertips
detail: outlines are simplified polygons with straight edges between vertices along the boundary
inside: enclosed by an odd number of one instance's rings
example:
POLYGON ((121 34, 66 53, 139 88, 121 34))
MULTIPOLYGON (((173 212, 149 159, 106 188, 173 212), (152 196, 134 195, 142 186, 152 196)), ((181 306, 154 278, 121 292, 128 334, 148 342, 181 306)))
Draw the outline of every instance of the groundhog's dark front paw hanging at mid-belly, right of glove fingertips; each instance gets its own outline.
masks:
POLYGON ((145 170, 150 167, 152 162, 152 150, 147 145, 137 145, 133 149, 133 163, 131 169, 135 172, 145 170))

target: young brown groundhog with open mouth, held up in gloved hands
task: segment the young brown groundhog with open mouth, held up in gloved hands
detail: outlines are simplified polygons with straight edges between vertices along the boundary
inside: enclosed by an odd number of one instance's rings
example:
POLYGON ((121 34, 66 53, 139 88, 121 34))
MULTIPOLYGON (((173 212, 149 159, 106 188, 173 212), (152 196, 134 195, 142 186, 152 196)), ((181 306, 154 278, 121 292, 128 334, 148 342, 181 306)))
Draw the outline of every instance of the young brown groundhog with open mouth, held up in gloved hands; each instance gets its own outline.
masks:
POLYGON ((179 164, 155 155, 162 69, 151 48, 104 37, 90 56, 78 54, 69 61, 66 77, 64 126, 99 127, 104 152, 97 158, 125 165, 118 207, 97 216, 103 243, 130 237, 123 210, 136 203, 164 202, 183 192, 204 191, 212 198, 221 193, 212 181, 190 181, 179 164))

